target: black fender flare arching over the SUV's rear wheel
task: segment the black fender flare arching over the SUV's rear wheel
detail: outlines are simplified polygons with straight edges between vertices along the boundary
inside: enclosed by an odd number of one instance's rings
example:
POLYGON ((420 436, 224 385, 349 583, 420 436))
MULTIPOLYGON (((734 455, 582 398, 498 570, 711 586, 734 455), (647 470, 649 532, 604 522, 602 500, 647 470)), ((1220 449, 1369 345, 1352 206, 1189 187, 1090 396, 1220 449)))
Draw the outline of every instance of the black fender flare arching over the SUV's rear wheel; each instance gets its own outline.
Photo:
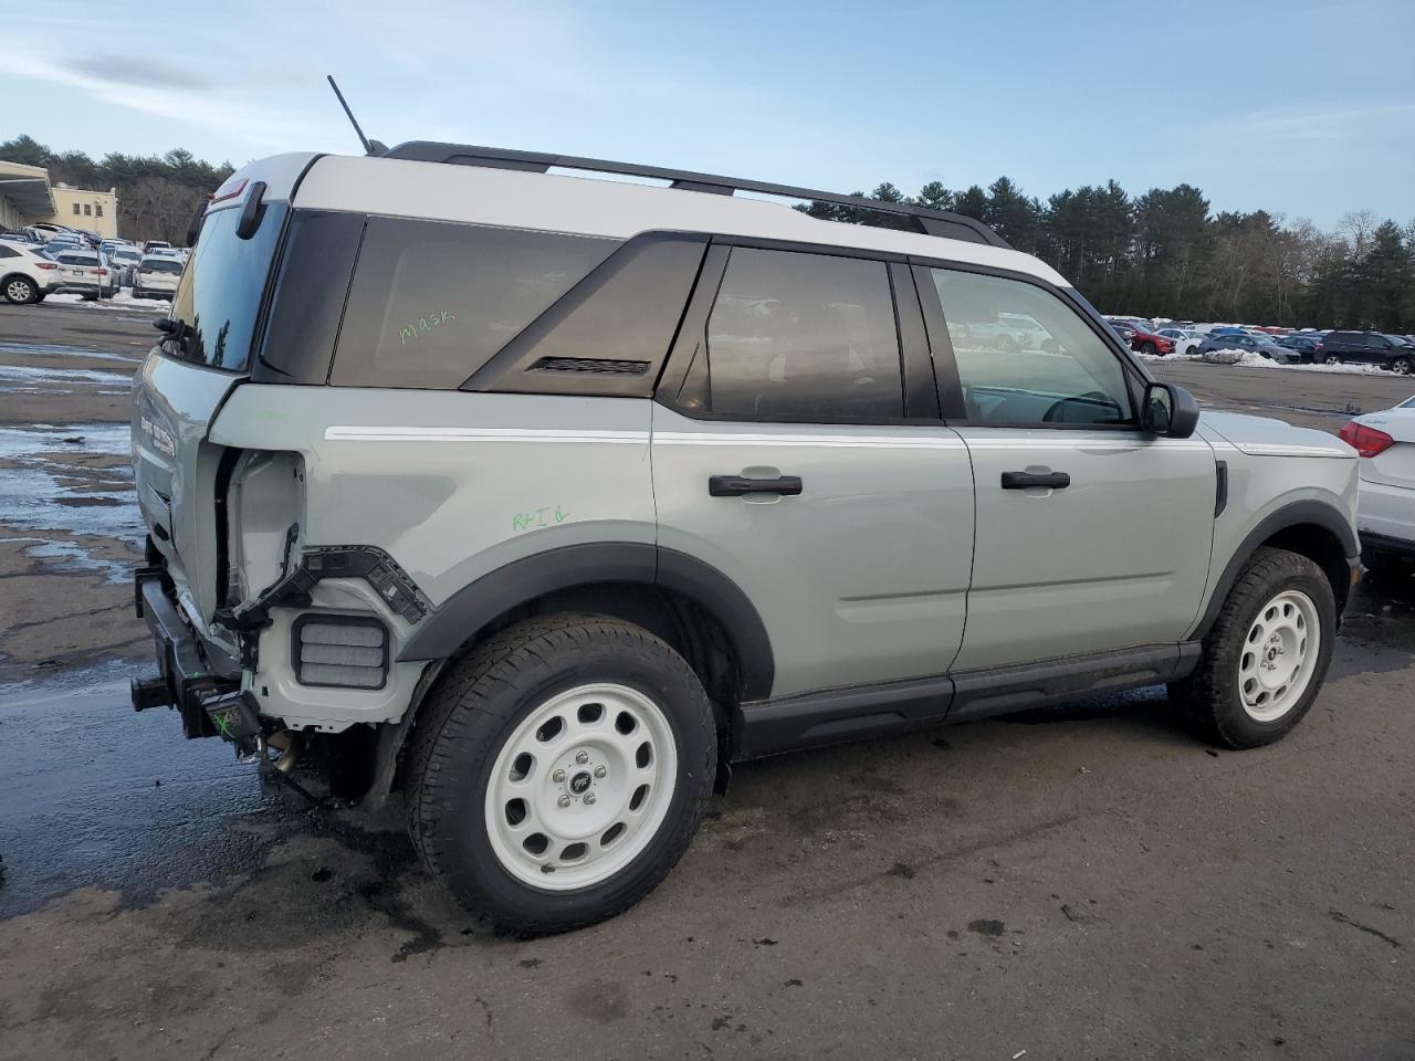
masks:
POLYGON ((741 672, 744 700, 771 695, 775 661, 756 605, 726 574, 688 553, 645 542, 567 545, 512 560, 443 601, 413 631, 399 662, 447 659, 488 622, 519 604, 597 583, 640 583, 688 597, 722 624, 741 672))

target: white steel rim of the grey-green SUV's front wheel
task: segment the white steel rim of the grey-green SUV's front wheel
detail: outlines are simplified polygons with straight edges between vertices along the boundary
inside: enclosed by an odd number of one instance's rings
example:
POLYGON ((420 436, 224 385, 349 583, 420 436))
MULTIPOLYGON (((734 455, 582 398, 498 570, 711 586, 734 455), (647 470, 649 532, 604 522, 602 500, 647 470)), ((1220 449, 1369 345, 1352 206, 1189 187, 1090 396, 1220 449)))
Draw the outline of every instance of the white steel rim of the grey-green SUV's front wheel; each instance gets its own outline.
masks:
POLYGON ((1322 620, 1299 590, 1259 608, 1238 658, 1238 699, 1255 721, 1274 721, 1302 699, 1316 671, 1322 620))

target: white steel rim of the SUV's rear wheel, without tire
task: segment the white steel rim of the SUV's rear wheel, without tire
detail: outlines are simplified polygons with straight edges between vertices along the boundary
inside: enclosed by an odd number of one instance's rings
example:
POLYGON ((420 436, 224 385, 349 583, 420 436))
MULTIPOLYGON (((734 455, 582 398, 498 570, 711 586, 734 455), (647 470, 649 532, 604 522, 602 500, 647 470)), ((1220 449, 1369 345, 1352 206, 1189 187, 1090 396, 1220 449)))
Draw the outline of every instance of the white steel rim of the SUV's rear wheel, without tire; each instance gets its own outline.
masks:
POLYGON ((582 685, 533 709, 501 747, 485 821, 502 869, 536 888, 601 884, 654 839, 678 751, 662 709, 625 685, 582 685))

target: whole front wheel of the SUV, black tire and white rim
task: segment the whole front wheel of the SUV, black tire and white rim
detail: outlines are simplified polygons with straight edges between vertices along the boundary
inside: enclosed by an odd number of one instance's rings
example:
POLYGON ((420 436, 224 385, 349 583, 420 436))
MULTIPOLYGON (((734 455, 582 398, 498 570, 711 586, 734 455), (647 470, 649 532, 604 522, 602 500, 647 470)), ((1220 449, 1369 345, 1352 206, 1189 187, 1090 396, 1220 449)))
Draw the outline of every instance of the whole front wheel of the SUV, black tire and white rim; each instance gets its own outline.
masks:
POLYGON ((1228 591, 1203 658, 1170 696, 1230 748, 1283 737, 1312 707, 1332 662, 1336 597, 1306 556, 1264 547, 1228 591))

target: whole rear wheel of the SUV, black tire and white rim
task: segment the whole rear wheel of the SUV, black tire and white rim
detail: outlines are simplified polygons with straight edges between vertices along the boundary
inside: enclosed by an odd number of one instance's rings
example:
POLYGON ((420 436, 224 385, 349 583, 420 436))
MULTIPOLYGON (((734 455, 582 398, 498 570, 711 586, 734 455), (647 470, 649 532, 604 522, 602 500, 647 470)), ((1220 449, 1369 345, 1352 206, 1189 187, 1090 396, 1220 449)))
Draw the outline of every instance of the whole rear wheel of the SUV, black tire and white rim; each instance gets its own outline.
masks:
POLYGON ((466 908, 512 932, 594 924, 647 895, 712 795, 698 676, 648 631, 531 620, 439 682, 409 760, 409 829, 466 908))

